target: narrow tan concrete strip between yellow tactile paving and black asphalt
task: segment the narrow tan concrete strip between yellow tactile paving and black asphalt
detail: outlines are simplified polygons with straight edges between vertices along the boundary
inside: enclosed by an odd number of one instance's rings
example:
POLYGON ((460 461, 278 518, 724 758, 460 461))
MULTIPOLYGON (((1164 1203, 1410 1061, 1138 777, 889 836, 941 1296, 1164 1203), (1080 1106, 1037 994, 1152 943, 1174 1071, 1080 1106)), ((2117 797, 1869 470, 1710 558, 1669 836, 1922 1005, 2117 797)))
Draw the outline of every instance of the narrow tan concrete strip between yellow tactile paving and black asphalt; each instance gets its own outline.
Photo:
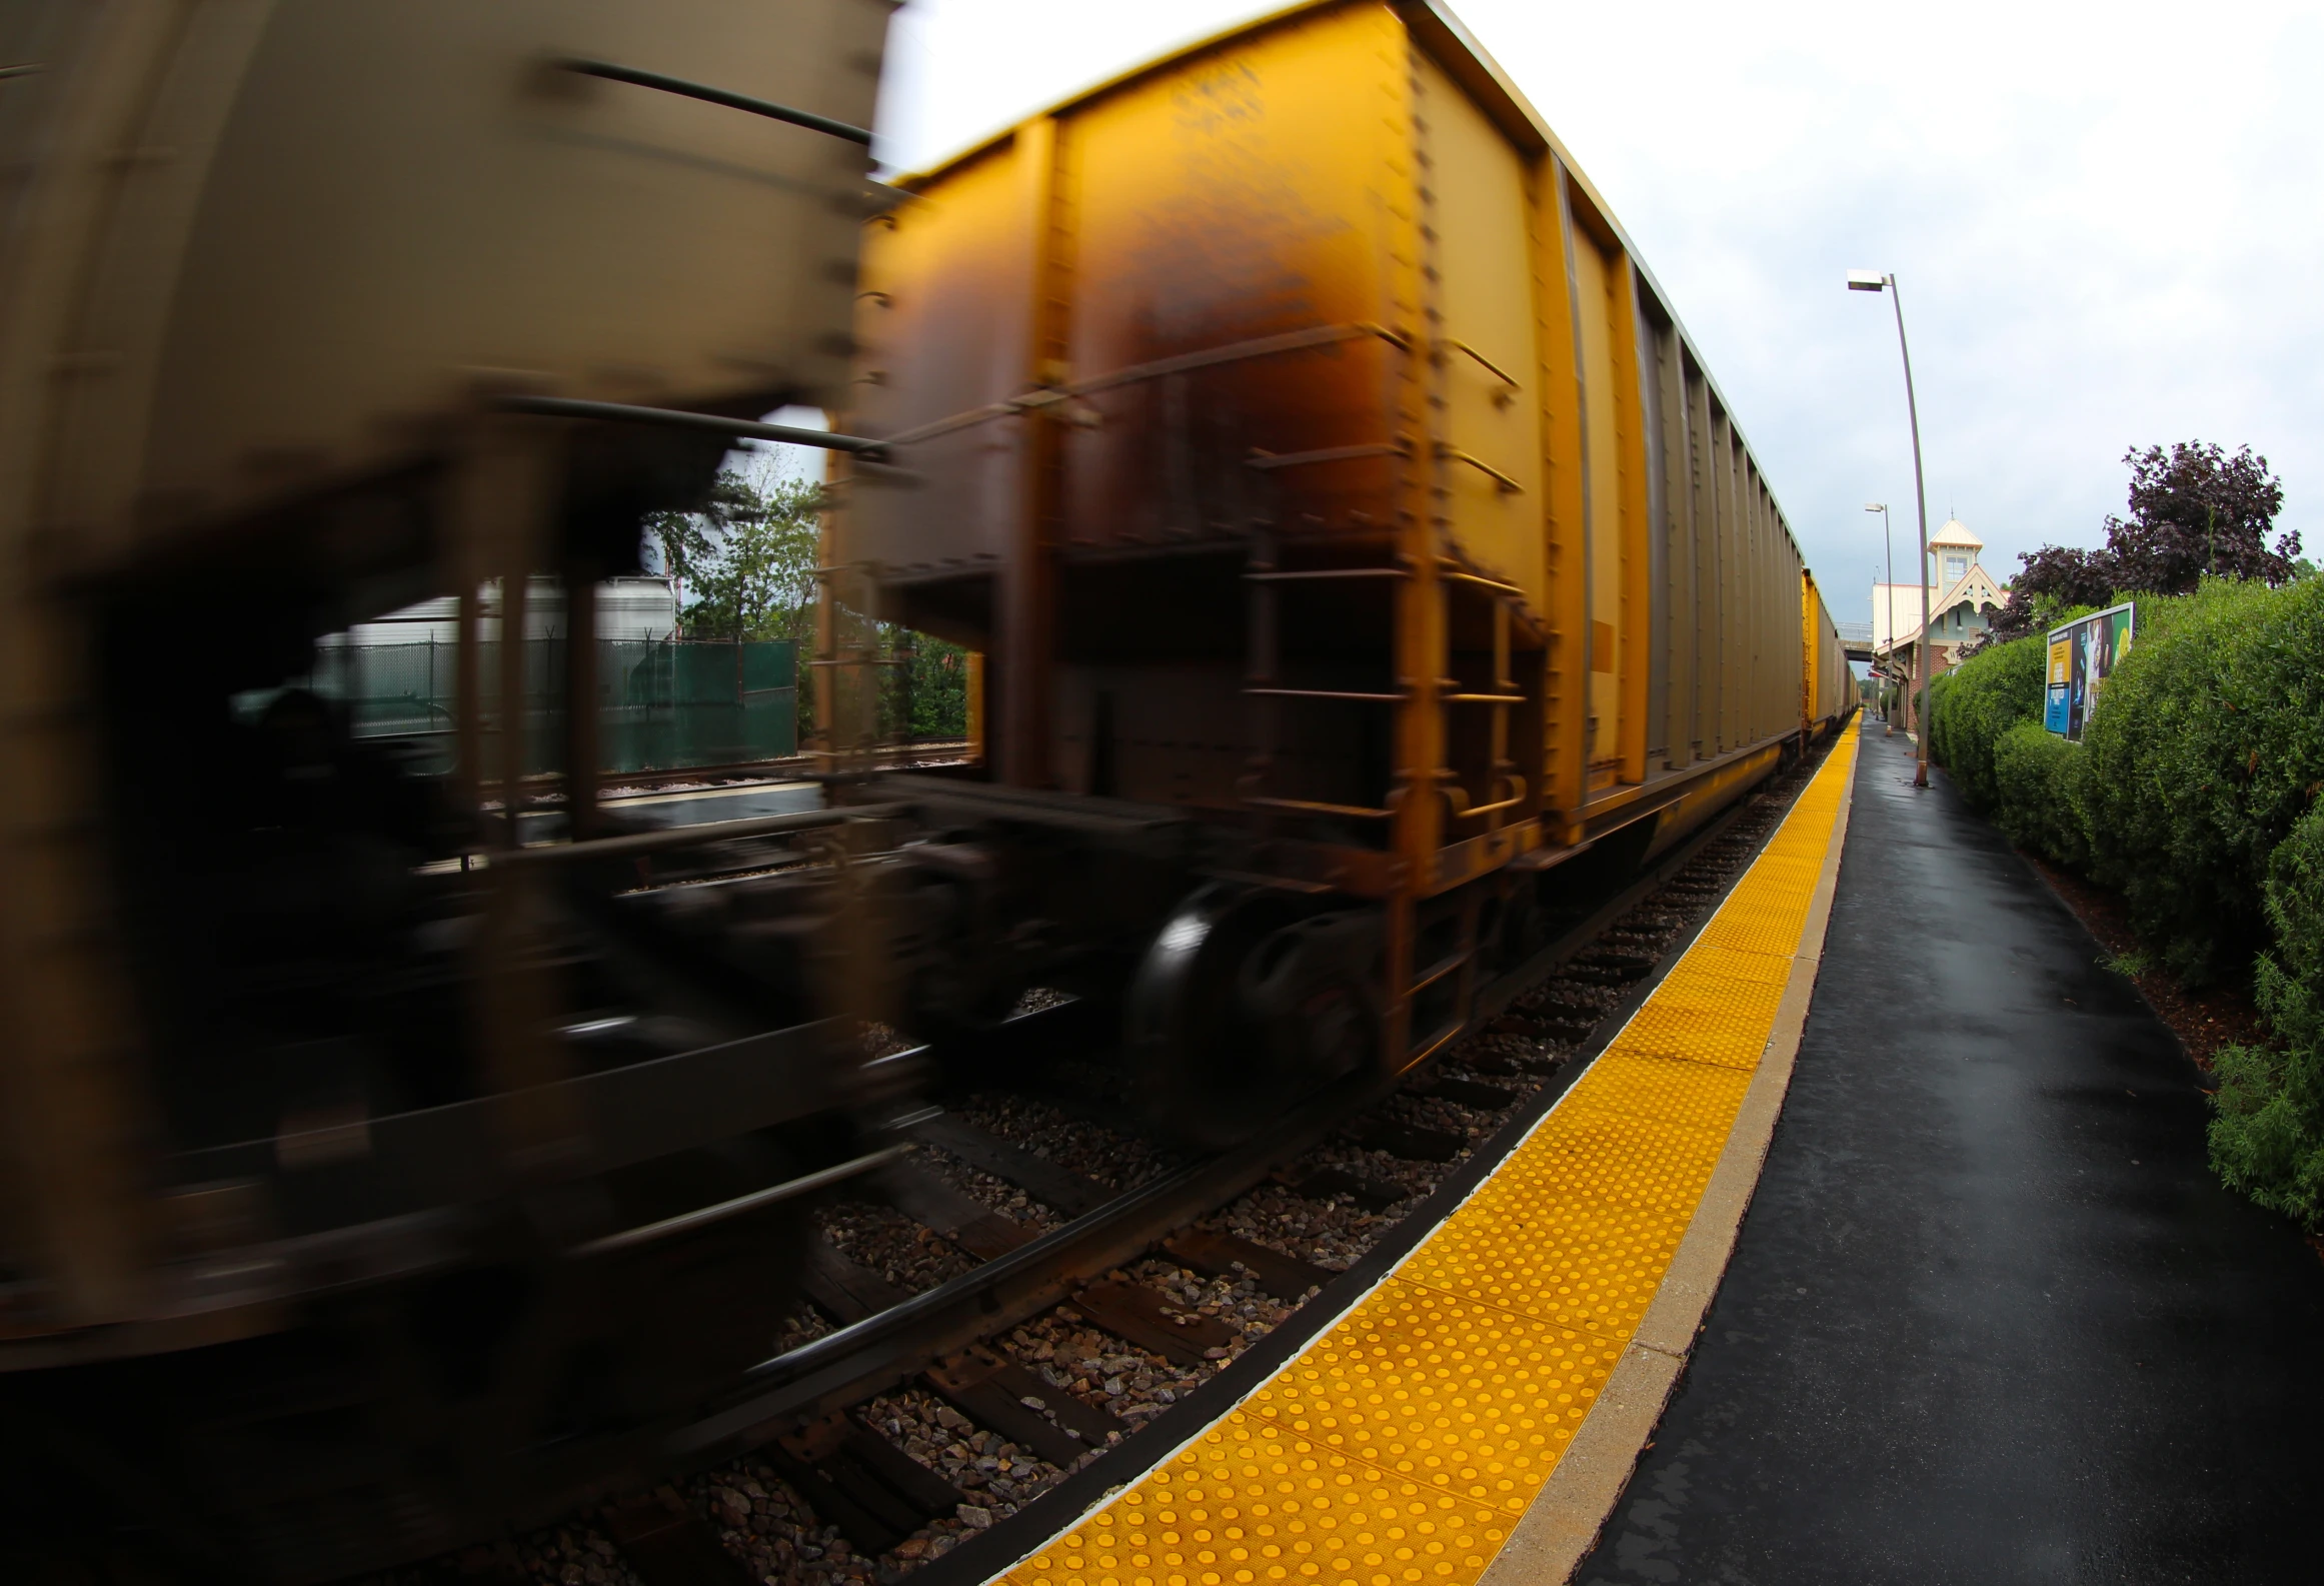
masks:
MULTIPOLYGON (((1638 1330, 1615 1360, 1597 1405, 1583 1419, 1573 1442, 1550 1470, 1511 1528, 1501 1551, 1485 1565, 1478 1586, 1564 1586, 1590 1549, 1597 1546, 1613 1507, 1622 1500, 1648 1439, 1662 1423, 1662 1412, 1678 1388, 1694 1337, 1710 1312, 1727 1260, 1734 1256, 1750 1212, 1759 1172, 1766 1165, 1783 1098, 1792 1088, 1792 1065, 1815 998, 1815 974, 1824 958, 1824 933, 1831 926, 1831 900, 1841 879, 1841 851, 1848 846, 1848 812, 1855 805, 1857 744, 1848 744, 1838 809, 1824 863, 1808 893, 1792 974, 1769 1030, 1766 1049, 1752 1084, 1743 1093, 1727 1149, 1694 1207, 1694 1219, 1664 1267, 1662 1288, 1645 1307, 1638 1330)), ((1806 788, 1801 788, 1806 795, 1806 788)))

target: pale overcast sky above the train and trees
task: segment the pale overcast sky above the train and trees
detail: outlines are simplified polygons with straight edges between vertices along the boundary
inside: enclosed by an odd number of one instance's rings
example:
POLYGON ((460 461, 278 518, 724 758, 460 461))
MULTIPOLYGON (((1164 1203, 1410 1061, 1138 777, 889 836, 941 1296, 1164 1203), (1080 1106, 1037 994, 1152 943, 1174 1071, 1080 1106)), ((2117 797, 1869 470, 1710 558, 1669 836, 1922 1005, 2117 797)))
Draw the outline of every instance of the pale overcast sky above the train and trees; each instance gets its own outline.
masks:
MULTIPOLYGON (((878 156, 930 165, 1074 88, 1278 9, 909 0, 878 156)), ((2122 451, 2250 442, 2324 553, 2324 7, 1466 0, 1469 30, 1597 181, 1727 391, 1834 616, 1866 619, 1880 519, 2008 579, 2099 544, 2122 451), (2308 109, 2303 109, 2303 105, 2308 109)))

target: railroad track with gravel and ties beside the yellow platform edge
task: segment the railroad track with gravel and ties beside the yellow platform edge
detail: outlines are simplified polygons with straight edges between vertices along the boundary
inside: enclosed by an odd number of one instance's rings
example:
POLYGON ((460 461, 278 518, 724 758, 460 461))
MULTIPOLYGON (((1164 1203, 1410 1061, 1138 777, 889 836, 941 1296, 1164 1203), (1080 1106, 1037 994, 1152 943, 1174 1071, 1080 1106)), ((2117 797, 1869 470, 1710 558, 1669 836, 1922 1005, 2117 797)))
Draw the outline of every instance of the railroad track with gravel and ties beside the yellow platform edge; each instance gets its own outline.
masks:
POLYGON ((1078 1060, 1106 1042, 1092 1009, 1020 1014, 992 1037, 1018 1079, 946 1095, 904 1160, 825 1212, 795 1339, 667 1449, 695 1474, 379 1579, 985 1579, 1264 1381, 1436 1226, 1645 998, 1820 758, 1566 919, 1485 991, 1480 1037, 1225 1151, 1136 1133, 1078 1060), (1346 1237, 1285 1237, 1285 1207, 1346 1237))

